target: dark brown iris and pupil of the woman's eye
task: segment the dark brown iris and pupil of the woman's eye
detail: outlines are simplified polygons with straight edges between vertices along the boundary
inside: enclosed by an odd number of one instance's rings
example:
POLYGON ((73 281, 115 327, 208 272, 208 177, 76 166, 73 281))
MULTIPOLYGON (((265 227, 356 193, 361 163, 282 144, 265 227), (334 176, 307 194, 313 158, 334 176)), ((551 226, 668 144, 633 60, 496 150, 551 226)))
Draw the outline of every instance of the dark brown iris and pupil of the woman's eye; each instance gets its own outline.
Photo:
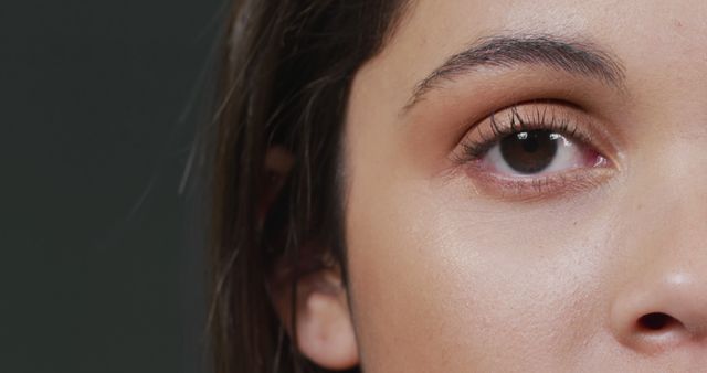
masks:
POLYGON ((549 130, 534 130, 507 136, 500 141, 500 153, 511 169, 531 174, 545 170, 557 153, 557 136, 549 130))

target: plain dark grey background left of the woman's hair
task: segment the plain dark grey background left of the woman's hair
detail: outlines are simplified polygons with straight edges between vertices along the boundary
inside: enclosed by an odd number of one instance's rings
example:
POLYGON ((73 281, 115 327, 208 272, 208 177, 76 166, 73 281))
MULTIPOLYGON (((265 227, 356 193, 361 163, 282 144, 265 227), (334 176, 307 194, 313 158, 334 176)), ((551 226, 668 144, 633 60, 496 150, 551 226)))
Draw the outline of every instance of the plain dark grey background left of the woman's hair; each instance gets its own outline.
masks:
POLYGON ((178 190, 224 4, 0 7, 0 372, 205 371, 178 190))

